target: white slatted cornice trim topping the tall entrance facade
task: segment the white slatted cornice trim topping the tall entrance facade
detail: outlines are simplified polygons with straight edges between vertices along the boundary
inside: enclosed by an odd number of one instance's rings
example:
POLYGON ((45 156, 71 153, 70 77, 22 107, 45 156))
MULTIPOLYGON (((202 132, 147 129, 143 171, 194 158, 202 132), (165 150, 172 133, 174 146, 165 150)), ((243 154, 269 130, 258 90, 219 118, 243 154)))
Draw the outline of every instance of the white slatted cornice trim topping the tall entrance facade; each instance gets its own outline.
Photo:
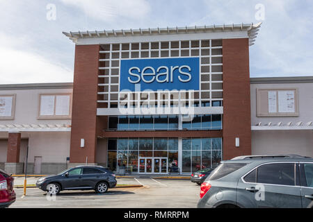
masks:
MULTIPOLYGON (((138 28, 138 29, 121 29, 112 31, 77 31, 63 34, 70 38, 74 43, 78 43, 80 39, 95 39, 107 37, 131 37, 131 36, 151 36, 151 35, 179 35, 179 34, 195 34, 195 33, 225 33, 225 32, 247 32, 249 37, 249 45, 255 42, 255 37, 259 31, 262 22, 257 24, 228 24, 213 26, 190 26, 190 27, 173 27, 173 28, 138 28)), ((220 36, 219 36, 220 37, 220 36)), ((236 37, 236 35, 234 35, 236 37)), ((227 37, 226 37, 227 38, 227 37)), ((229 38, 229 37, 228 37, 229 38)), ((83 44, 85 44, 83 41, 83 44)), ((93 42, 93 41, 92 41, 93 42)))

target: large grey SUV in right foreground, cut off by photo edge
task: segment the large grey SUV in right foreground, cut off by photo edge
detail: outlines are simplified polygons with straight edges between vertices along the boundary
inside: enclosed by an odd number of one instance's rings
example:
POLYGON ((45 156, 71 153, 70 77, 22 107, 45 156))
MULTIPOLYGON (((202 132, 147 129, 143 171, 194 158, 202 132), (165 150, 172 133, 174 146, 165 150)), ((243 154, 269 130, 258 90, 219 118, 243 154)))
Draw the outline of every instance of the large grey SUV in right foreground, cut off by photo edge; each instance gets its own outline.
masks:
POLYGON ((313 207, 313 158, 260 155, 223 161, 202 183, 198 207, 313 207))

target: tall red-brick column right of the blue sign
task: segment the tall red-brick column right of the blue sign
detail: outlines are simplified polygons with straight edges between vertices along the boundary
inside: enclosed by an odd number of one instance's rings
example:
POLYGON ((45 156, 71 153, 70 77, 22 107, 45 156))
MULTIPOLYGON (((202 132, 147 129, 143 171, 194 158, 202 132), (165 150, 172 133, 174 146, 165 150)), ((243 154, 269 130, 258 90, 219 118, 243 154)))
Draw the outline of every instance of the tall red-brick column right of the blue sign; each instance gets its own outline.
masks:
POLYGON ((251 155, 248 38, 223 40, 223 107, 223 160, 251 155))

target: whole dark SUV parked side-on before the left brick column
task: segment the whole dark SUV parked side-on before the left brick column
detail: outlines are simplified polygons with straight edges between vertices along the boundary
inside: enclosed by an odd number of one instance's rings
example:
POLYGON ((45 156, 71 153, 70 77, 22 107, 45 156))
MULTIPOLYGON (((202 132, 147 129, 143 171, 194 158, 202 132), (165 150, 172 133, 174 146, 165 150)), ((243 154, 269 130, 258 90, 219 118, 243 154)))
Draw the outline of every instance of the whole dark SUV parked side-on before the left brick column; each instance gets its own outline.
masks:
POLYGON ((97 166, 79 166, 67 169, 56 176, 40 178, 36 186, 49 194, 58 194, 62 190, 94 189, 104 194, 109 188, 115 187, 115 174, 109 169, 97 166))

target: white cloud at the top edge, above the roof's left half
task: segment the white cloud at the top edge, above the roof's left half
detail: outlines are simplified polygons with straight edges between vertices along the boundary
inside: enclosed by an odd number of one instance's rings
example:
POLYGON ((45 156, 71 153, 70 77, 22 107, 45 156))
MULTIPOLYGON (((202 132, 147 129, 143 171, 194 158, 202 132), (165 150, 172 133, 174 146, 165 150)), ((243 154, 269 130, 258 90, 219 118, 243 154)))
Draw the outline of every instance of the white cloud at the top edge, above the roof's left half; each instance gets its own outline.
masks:
POLYGON ((146 0, 61 0, 63 3, 83 10, 89 17, 107 22, 125 17, 143 19, 150 12, 146 0))

